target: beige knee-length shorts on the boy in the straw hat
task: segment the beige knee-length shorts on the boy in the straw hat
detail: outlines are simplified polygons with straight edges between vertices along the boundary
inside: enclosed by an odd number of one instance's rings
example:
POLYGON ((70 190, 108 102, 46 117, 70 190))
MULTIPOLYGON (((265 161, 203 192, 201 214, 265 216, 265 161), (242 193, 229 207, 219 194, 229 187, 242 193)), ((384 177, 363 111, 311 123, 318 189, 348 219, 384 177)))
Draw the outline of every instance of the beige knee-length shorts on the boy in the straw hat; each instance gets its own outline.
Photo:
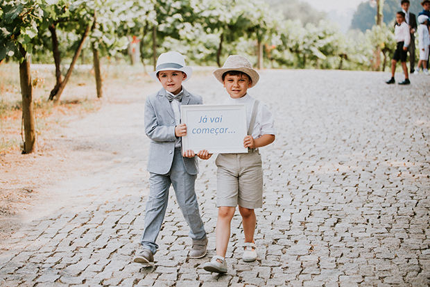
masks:
POLYGON ((216 206, 255 209, 263 206, 263 168, 258 151, 219 154, 216 158, 216 206))

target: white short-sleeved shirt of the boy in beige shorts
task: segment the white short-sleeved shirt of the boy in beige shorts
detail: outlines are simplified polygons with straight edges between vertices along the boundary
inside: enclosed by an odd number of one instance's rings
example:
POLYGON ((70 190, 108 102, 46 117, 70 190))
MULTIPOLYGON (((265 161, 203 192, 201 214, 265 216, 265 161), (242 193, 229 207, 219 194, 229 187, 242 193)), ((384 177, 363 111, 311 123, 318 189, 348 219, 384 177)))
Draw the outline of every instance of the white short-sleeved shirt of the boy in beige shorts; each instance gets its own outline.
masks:
MULTIPOLYGON (((246 104, 246 130, 248 131, 251 117, 252 108, 254 108, 255 99, 250 95, 239 99, 233 99, 232 97, 227 97, 223 101, 223 104, 246 104)), ((257 109, 257 117, 255 117, 254 129, 252 129, 252 138, 259 138, 263 135, 275 135, 275 120, 273 120, 273 115, 268 110, 268 107, 264 103, 260 103, 257 109)))

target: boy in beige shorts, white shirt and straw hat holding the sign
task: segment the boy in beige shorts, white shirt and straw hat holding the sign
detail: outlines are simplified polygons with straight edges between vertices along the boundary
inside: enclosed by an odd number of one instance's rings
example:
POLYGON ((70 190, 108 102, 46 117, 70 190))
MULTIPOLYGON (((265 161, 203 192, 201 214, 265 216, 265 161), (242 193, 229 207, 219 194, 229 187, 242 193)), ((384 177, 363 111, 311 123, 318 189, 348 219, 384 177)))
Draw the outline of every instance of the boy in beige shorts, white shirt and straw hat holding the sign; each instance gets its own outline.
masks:
POLYGON ((229 56, 214 76, 223 83, 230 97, 224 104, 246 104, 248 136, 243 146, 248 154, 218 154, 216 158, 218 220, 216 222, 216 256, 203 265, 209 272, 225 273, 225 254, 230 239, 230 222, 236 206, 242 216, 245 243, 243 261, 257 259, 254 241, 255 208, 263 205, 263 169, 259 147, 270 145, 275 140, 273 115, 267 106, 248 95, 248 88, 259 81, 259 74, 252 69, 250 61, 239 55, 229 56))

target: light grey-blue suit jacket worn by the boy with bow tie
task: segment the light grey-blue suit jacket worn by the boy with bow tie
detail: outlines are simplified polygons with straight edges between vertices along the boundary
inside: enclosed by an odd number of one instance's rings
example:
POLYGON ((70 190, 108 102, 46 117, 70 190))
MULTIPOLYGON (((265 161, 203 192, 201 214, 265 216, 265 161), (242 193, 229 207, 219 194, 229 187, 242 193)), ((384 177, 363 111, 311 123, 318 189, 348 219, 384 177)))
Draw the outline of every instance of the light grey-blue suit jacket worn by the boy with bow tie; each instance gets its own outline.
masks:
MULTIPOLYGON (((165 95, 166 90, 162 88, 146 97, 145 103, 145 133, 150 138, 146 170, 155 174, 169 172, 175 152, 175 115, 165 95)), ((202 97, 193 95, 184 89, 181 105, 196 104, 203 104, 202 97)), ((182 160, 189 174, 198 174, 197 156, 182 157, 182 160)))

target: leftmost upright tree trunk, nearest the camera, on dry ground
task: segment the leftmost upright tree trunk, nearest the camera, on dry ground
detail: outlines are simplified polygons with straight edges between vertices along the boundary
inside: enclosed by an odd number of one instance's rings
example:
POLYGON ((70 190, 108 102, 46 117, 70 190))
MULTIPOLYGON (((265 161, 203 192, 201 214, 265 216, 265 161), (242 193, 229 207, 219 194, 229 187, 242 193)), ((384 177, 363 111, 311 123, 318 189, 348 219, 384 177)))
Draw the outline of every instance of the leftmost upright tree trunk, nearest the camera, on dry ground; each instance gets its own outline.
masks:
POLYGON ((33 110, 33 87, 31 86, 31 69, 27 53, 20 45, 24 60, 19 64, 19 81, 22 94, 22 119, 24 121, 24 151, 23 154, 31 154, 36 149, 35 117, 33 110))

